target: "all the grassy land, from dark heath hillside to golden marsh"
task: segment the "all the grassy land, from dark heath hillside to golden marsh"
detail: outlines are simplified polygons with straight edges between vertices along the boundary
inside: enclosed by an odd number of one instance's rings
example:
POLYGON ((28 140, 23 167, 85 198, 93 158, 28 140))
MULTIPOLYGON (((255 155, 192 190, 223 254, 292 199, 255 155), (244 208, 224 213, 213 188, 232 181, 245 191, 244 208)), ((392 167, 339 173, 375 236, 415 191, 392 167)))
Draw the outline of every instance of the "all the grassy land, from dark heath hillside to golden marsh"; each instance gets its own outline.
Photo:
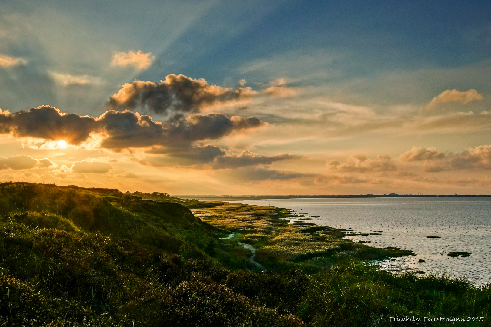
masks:
POLYGON ((408 252, 286 224, 284 209, 198 204, 193 214, 175 201, 0 184, 0 326, 489 326, 489 286, 364 261, 408 252), (389 319, 404 316, 483 321, 389 319))

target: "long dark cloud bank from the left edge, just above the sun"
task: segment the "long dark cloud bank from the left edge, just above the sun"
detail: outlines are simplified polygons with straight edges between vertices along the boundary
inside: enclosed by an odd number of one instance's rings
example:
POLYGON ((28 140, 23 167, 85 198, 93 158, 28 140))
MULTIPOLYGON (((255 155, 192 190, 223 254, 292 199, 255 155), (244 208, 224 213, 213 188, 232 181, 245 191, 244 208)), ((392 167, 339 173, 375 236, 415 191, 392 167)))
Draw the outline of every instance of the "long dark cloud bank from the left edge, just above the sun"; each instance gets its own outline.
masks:
POLYGON ((0 132, 13 133, 16 137, 35 137, 48 140, 64 140, 80 144, 90 133, 103 133, 103 148, 149 147, 154 145, 191 148, 191 143, 206 139, 218 139, 233 131, 260 126, 255 117, 228 118, 223 114, 193 114, 177 122, 161 123, 148 115, 129 110, 108 110, 99 118, 66 114, 51 106, 40 106, 10 114, 0 112, 0 132))

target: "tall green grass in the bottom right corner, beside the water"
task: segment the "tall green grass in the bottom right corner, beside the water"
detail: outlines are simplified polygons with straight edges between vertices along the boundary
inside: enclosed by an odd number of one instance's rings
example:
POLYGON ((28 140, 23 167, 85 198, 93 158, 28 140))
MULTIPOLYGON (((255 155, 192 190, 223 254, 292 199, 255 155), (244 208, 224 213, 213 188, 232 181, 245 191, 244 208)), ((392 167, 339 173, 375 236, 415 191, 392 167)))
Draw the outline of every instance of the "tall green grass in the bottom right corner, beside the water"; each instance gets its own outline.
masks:
POLYGON ((464 279, 415 273, 395 277, 350 260, 312 277, 300 316, 312 326, 428 326, 424 317, 483 317, 481 324, 433 325, 489 326, 490 297, 490 286, 478 288, 464 279), (405 316, 420 318, 421 323, 390 322, 390 317, 405 316))

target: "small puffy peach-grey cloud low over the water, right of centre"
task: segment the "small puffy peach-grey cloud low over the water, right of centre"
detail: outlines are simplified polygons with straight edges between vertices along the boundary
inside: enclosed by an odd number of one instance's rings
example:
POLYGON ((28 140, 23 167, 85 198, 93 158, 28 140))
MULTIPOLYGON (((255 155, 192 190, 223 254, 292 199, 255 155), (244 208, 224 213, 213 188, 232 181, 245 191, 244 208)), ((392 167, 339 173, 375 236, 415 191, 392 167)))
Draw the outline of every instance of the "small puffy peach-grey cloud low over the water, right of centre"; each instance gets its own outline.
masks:
POLYGON ((374 159, 367 159, 363 154, 352 154, 344 163, 329 160, 327 161, 327 166, 331 170, 357 173, 393 171, 397 169, 396 165, 394 165, 392 159, 388 155, 380 154, 374 159))

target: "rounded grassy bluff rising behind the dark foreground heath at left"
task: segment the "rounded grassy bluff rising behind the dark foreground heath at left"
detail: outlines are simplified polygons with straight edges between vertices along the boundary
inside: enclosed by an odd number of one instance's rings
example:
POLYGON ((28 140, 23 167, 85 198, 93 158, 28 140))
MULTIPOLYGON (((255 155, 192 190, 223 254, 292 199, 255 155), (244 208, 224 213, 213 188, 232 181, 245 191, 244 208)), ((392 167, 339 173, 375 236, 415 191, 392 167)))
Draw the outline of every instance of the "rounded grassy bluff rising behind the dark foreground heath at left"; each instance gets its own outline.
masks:
POLYGON ((191 243, 207 243, 220 234, 179 203, 145 201, 113 189, 1 183, 0 215, 32 228, 100 232, 168 253, 179 252, 187 236, 191 243))

